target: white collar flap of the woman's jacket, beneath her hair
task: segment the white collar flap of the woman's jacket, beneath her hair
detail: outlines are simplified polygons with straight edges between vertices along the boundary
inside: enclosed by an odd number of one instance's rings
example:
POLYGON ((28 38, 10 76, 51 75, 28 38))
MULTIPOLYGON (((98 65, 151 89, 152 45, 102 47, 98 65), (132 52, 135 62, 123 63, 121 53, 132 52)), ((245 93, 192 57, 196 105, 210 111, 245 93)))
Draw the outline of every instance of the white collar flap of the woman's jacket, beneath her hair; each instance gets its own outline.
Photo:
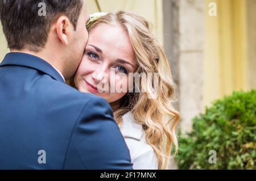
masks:
POLYGON ((134 138, 135 140, 141 140, 143 136, 142 125, 136 123, 131 112, 127 112, 122 116, 123 122, 121 124, 121 133, 124 137, 134 138))

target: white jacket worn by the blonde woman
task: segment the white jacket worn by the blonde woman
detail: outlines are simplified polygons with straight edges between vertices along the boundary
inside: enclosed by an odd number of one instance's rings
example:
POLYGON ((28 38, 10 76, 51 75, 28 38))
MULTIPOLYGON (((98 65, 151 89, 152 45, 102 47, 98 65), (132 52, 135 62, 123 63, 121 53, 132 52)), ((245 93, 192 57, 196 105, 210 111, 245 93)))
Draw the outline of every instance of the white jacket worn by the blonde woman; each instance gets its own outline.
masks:
POLYGON ((134 170, 156 170, 158 160, 154 149, 146 142, 142 125, 135 123, 131 112, 122 116, 121 133, 130 150, 131 162, 134 170))

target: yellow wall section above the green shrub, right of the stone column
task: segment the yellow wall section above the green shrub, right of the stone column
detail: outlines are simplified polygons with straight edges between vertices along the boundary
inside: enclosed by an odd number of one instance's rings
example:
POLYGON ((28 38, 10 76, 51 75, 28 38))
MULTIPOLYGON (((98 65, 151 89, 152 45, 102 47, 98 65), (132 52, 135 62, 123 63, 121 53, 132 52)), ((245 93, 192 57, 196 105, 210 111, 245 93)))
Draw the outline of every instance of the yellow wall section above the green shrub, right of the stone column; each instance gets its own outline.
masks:
POLYGON ((204 105, 248 89, 247 24, 244 0, 205 0, 217 4, 217 16, 205 11, 204 105))

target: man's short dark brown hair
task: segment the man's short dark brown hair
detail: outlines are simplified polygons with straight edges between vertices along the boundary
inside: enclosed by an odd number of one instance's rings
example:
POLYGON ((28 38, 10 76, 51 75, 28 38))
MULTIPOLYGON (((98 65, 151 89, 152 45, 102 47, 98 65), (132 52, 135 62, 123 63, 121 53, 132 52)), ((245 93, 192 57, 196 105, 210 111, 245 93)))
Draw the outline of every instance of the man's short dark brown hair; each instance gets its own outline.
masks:
POLYGON ((67 16, 76 30, 81 9, 82 0, 0 0, 0 18, 8 47, 39 51, 46 45, 49 30, 60 15, 67 16), (42 3, 46 16, 40 14, 42 3))

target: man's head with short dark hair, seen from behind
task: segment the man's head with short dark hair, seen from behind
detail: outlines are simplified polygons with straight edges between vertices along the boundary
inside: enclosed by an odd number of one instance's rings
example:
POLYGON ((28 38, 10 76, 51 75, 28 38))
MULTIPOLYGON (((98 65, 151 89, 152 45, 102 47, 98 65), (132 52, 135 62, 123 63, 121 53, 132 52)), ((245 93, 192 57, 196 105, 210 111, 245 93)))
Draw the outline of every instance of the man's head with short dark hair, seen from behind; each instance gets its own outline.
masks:
POLYGON ((85 4, 85 0, 1 0, 0 18, 9 48, 40 54, 65 78, 71 77, 88 40, 85 4))

